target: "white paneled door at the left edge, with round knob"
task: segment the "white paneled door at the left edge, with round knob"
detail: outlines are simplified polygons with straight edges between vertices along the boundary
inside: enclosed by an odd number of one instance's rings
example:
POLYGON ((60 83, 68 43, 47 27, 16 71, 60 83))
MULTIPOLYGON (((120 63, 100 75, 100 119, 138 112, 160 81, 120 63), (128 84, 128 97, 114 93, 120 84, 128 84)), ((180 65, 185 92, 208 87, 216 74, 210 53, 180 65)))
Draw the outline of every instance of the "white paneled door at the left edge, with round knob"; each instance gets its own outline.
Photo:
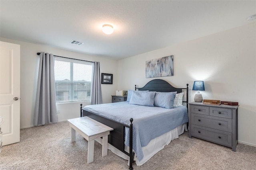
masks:
POLYGON ((20 141, 20 45, 0 41, 2 145, 20 141))

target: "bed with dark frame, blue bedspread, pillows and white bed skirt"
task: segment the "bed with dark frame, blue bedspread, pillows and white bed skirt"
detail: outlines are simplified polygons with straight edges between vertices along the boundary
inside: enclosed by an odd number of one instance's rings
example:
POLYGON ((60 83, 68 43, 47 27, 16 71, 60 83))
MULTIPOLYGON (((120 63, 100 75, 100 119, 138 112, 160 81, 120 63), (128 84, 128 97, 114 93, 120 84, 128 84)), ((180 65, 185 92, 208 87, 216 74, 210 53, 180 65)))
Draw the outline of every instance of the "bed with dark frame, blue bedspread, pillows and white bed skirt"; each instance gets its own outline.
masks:
POLYGON ((186 88, 174 88, 164 80, 155 79, 142 88, 135 85, 135 90, 128 90, 127 98, 127 102, 85 107, 81 104, 80 116, 112 127, 108 148, 129 160, 129 169, 133 169, 134 158, 137 165, 142 165, 184 133, 188 123, 188 84, 186 88), (186 103, 185 106, 172 107, 174 98, 184 93, 186 100, 181 97, 179 103, 186 103), (169 100, 172 102, 166 102, 169 100))

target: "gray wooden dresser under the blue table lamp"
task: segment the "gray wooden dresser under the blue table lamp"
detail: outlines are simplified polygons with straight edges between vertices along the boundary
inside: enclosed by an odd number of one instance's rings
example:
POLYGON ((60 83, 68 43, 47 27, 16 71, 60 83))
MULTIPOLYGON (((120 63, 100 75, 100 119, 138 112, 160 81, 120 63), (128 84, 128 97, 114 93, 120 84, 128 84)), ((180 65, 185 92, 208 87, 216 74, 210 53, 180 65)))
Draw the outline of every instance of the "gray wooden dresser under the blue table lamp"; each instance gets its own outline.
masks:
POLYGON ((238 106, 189 103, 189 137, 218 143, 236 151, 238 106))

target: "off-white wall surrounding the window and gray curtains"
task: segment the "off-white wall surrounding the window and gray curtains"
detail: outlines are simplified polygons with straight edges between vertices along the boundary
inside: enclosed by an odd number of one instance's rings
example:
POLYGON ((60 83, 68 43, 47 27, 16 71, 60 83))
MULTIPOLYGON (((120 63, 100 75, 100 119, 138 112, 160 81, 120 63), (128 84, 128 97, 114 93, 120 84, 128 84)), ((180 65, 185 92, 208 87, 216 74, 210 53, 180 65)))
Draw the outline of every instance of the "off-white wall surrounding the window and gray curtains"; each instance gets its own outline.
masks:
MULTIPOLYGON (((99 61, 100 71, 103 73, 113 74, 113 84, 102 84, 103 103, 111 103, 111 95, 116 94, 117 87, 117 61, 106 59, 94 55, 86 55, 58 49, 46 45, 37 45, 16 41, 11 39, 0 39, 8 43, 15 43, 20 45, 20 127, 31 127, 34 121, 34 106, 36 98, 36 86, 38 77, 39 56, 36 53, 44 51, 54 55, 69 57, 74 59, 81 59, 86 61, 99 61)), ((57 104, 57 109, 60 110, 58 120, 64 121, 80 117, 80 103, 57 104)), ((87 102, 82 102, 83 106, 88 105, 87 102)))

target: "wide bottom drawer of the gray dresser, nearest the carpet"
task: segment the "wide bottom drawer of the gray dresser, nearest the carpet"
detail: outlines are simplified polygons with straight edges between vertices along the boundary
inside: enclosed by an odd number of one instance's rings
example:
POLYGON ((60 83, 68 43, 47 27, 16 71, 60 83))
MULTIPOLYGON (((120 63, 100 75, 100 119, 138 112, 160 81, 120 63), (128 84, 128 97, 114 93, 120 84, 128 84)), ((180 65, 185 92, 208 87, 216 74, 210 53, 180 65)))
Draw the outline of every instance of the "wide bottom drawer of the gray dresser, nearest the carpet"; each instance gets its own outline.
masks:
POLYGON ((197 125, 191 125, 191 131, 194 137, 232 147, 232 133, 197 125))

